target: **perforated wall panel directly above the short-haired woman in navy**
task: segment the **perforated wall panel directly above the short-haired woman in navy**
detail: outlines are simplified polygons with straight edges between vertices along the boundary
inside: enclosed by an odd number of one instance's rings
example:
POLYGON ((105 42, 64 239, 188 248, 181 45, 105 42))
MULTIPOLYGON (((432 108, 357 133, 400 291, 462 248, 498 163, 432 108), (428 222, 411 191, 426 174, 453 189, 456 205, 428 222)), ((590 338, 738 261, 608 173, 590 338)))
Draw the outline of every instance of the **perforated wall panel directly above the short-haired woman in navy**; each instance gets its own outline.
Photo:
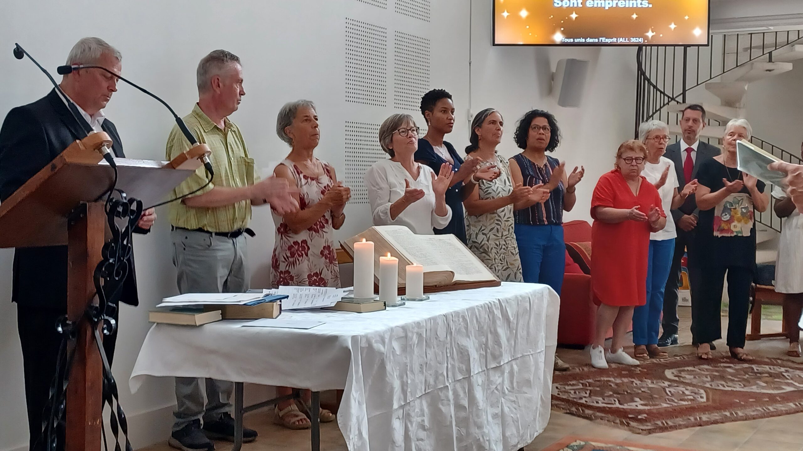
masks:
POLYGON ((393 104, 418 111, 430 90, 430 40, 396 32, 393 43, 393 104))

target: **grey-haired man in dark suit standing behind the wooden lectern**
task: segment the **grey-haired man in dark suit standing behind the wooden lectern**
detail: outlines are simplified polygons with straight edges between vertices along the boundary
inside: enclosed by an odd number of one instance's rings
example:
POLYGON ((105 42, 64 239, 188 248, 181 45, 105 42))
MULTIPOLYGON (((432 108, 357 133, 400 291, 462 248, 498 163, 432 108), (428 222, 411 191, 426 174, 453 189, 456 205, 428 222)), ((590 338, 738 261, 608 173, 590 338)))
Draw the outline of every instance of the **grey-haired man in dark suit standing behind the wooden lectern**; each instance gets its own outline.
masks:
MULTIPOLYGON (((119 74, 120 53, 101 39, 84 38, 72 48, 67 64, 94 64, 119 74)), ((78 119, 97 132, 107 132, 112 138, 115 156, 124 157, 117 129, 110 120, 105 120, 102 112, 112 93, 117 91, 116 83, 116 77, 100 69, 81 69, 64 75, 59 86, 79 108, 78 119)), ((6 201, 55 156, 84 136, 87 136, 84 128, 55 89, 32 104, 13 108, 0 128, 0 201, 6 201)), ((147 233, 155 219, 152 210, 143 213, 135 232, 147 233)), ((120 299, 110 302, 137 306, 133 260, 129 264, 120 299)), ((17 303, 28 427, 31 449, 35 449, 42 433, 43 408, 62 339, 55 324, 67 313, 67 246, 15 250, 12 278, 11 301, 17 303)), ((110 364, 115 340, 116 333, 104 339, 110 364)), ((58 448, 63 448, 61 440, 58 448)), ((38 449, 43 449, 42 443, 38 449)))

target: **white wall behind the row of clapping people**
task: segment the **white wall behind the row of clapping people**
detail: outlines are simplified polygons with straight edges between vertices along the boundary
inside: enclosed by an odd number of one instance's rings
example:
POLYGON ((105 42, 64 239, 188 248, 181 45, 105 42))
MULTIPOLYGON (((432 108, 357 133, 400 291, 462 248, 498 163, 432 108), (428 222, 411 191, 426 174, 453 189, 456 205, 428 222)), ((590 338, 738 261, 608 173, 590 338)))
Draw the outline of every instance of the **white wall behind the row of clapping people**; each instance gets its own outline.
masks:
MULTIPOLYGON (((516 120, 529 108, 555 113, 564 132, 556 152, 569 165, 585 165, 586 178, 578 187, 578 205, 568 219, 588 219, 590 193, 597 178, 613 165, 613 152, 632 137, 634 107, 634 49, 557 49, 491 47, 491 0, 435 0, 432 22, 396 14, 371 3, 381 0, 140 0, 91 2, 73 0, 3 0, 0 15, 0 115, 10 108, 39 99, 50 89, 47 79, 29 61, 11 55, 14 42, 30 51, 55 72, 75 41, 96 35, 123 54, 126 77, 151 88, 181 115, 197 100, 194 71, 208 51, 225 48, 243 59, 245 90, 240 110, 231 117, 243 130, 260 166, 279 160, 287 147, 273 132, 275 114, 288 100, 316 101, 322 140, 318 156, 344 174, 344 120, 381 123, 393 108, 393 33, 430 39, 431 87, 454 95, 463 118, 469 102, 474 112, 492 106, 507 120, 500 151, 517 152, 512 141, 516 120), (471 21, 470 21, 471 13, 471 21), (356 18, 388 29, 388 107, 370 107, 344 101, 344 19, 356 18), (470 26, 471 23, 471 26, 470 26), (471 52, 469 38, 471 37, 471 52), (472 89, 468 62, 471 55, 472 89), (549 96, 551 71, 561 58, 592 61, 582 108, 558 108, 549 96)), ((166 136, 173 123, 159 104, 130 87, 120 91, 106 110, 124 141, 128 156, 162 159, 166 136)), ((414 113, 418 118, 418 112, 414 113)), ((463 148, 468 140, 467 120, 459 120, 448 139, 463 148)), ((338 238, 365 229, 367 206, 349 205, 349 221, 338 238)), ((175 289, 170 262, 166 211, 155 230, 137 239, 137 279, 142 306, 122 307, 120 338, 114 364, 120 397, 136 447, 164 440, 174 404, 171 380, 149 380, 132 395, 126 384, 137 352, 149 330, 149 307, 175 289)), ((265 286, 273 246, 270 214, 255 209, 251 223, 259 234, 251 240, 252 285, 265 286)), ((16 330, 16 309, 10 298, 11 250, 0 250, 0 450, 24 449, 27 425, 22 384, 22 356, 16 330)))

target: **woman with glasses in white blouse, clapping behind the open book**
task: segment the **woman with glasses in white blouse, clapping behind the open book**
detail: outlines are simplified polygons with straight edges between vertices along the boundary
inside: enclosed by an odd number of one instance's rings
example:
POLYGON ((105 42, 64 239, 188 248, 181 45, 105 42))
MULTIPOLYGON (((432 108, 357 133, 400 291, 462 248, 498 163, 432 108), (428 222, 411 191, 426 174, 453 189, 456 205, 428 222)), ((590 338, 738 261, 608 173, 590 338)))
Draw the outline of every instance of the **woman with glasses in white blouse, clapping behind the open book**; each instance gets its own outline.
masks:
POLYGON ((418 130, 408 114, 394 114, 382 123, 379 144, 390 158, 365 173, 365 184, 373 225, 406 225, 414 234, 431 235, 452 217, 446 205, 452 170, 446 163, 436 177, 429 166, 415 162, 418 130))

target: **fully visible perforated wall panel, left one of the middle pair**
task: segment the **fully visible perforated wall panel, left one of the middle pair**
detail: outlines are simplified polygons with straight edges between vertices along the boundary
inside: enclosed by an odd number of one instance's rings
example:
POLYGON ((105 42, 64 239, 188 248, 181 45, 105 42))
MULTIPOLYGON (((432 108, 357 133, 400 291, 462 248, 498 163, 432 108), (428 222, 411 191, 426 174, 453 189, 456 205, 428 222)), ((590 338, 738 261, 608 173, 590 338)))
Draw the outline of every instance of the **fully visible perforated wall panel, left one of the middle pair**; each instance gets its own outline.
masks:
POLYGON ((346 18, 346 102, 388 103, 388 29, 346 18))

